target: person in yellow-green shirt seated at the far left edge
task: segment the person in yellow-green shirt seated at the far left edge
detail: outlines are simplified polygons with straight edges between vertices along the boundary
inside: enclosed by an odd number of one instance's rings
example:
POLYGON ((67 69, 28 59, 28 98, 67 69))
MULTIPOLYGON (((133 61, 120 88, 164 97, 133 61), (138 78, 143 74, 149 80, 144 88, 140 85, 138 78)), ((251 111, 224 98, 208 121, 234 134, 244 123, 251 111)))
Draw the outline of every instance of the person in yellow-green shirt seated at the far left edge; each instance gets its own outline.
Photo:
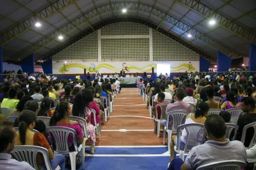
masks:
POLYGON ((12 88, 8 92, 9 98, 4 98, 1 108, 11 108, 14 109, 16 108, 19 100, 16 100, 17 98, 17 91, 16 89, 12 88))

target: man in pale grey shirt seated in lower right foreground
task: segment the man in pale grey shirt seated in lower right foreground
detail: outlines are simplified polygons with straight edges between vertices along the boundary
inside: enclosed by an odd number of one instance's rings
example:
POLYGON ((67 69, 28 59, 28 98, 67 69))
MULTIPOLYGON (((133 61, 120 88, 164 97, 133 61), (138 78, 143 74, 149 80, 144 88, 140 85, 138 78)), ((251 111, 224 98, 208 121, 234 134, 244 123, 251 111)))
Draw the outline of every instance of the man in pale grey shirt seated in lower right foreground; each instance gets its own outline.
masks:
POLYGON ((179 158, 172 160, 168 170, 195 170, 203 164, 222 160, 246 162, 244 144, 226 139, 225 121, 216 114, 209 115, 204 123, 208 141, 193 147, 185 162, 179 158))

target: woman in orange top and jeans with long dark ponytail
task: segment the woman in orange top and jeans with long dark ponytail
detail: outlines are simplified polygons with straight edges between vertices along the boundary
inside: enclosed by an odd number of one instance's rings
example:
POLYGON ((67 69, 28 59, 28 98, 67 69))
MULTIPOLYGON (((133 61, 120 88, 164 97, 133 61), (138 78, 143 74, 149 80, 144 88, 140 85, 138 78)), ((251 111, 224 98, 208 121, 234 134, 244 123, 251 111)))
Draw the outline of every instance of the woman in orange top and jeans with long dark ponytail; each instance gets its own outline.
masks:
MULTIPOLYGON (((35 133, 32 130, 36 125, 36 114, 31 110, 23 110, 18 117, 18 132, 15 138, 15 146, 32 145, 44 147, 48 150, 48 157, 53 170, 60 166, 61 170, 65 170, 65 157, 62 154, 54 155, 49 143, 42 133, 35 133)), ((37 155, 36 162, 38 165, 44 166, 41 154, 37 155)))

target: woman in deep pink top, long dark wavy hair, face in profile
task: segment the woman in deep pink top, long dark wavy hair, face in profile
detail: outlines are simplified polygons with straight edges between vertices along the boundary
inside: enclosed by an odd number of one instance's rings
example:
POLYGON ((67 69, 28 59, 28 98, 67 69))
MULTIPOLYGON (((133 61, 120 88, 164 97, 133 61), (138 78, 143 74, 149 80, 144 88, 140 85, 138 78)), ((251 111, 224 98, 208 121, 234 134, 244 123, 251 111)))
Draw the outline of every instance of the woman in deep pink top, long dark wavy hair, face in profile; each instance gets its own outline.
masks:
MULTIPOLYGON (((53 116, 51 117, 50 126, 69 127, 71 129, 76 130, 77 144, 82 144, 83 143, 83 131, 77 121, 71 121, 68 119, 68 116, 71 116, 71 115, 72 115, 72 111, 71 111, 71 107, 68 104, 68 102, 60 102, 60 104, 57 105, 53 116)), ((75 150, 73 144, 74 144, 73 136, 71 136, 71 134, 70 134, 68 136, 68 145, 69 145, 70 151, 75 150)))

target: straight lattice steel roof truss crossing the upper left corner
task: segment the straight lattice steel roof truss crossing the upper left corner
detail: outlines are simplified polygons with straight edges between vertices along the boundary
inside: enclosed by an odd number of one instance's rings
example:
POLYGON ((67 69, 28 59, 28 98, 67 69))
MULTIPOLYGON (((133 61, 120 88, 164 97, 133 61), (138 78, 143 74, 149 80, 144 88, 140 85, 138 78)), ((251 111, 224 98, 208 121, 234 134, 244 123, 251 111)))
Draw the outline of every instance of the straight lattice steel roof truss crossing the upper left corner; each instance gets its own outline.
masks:
POLYGON ((1 34, 1 45, 6 45, 11 40, 17 38, 19 35, 25 33, 26 31, 34 27, 36 22, 42 22, 46 20, 47 18, 53 16, 57 12, 63 10, 67 6, 70 6, 76 1, 77 0, 58 0, 53 4, 45 7, 41 11, 36 12, 33 16, 25 19, 18 25, 1 34), (54 7, 56 7, 56 9, 54 7))

